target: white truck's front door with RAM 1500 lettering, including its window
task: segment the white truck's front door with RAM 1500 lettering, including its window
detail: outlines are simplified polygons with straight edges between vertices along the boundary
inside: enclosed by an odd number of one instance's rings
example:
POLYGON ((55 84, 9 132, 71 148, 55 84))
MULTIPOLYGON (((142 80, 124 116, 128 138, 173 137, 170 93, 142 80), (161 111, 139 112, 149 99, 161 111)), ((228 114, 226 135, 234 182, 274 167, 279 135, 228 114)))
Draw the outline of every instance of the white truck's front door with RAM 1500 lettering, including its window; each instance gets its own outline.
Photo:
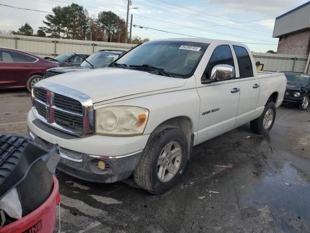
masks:
MULTIPOLYGON (((212 48, 208 48, 212 49, 212 48)), ((211 70, 216 65, 231 65, 235 67, 232 48, 228 44, 217 46, 208 64, 206 64, 202 79, 210 79, 211 70)), ((201 99, 198 143, 206 141, 234 128, 239 104, 239 80, 198 83, 197 91, 201 99)))

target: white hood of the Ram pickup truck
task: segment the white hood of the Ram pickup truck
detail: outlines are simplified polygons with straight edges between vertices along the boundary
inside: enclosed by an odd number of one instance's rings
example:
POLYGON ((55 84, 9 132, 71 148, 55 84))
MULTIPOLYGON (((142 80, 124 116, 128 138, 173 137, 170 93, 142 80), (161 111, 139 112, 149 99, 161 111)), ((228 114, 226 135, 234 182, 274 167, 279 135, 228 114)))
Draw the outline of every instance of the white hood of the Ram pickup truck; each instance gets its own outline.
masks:
POLYGON ((97 68, 56 75, 44 80, 90 96, 93 103, 120 97, 177 88, 186 80, 123 68, 97 68))

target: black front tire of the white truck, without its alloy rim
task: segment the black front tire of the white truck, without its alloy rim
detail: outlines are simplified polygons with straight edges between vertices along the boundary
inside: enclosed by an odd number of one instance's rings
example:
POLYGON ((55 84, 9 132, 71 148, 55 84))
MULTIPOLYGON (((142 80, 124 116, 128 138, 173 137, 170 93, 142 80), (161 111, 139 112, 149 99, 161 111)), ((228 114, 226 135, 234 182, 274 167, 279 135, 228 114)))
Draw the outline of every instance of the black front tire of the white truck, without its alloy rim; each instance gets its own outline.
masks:
POLYGON ((183 131, 170 125, 159 126, 150 135, 146 147, 143 150, 142 157, 134 171, 135 182, 141 188, 152 194, 167 192, 177 182, 184 171, 188 153, 188 143, 183 131), (181 146, 181 163, 171 180, 162 182, 157 176, 157 162, 165 146, 172 141, 179 143, 181 146))

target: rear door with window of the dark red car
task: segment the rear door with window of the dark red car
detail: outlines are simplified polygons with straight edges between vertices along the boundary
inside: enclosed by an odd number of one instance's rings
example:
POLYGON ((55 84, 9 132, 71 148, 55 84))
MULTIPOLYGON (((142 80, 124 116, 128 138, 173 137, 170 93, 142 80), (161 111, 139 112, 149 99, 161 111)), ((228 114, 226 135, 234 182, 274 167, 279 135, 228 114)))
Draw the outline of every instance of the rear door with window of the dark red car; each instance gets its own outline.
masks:
POLYGON ((23 53, 0 50, 0 86, 22 87, 37 59, 23 53))

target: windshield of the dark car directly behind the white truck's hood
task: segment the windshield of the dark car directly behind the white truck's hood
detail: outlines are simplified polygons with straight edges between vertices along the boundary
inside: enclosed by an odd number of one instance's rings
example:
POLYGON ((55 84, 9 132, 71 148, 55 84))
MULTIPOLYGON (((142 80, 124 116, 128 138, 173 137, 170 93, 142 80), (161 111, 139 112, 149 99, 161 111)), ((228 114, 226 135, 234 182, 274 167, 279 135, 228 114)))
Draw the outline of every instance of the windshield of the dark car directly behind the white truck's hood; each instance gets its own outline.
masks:
MULTIPOLYGON (((117 58, 119 54, 114 54, 111 52, 95 52, 90 55, 86 60, 90 62, 95 68, 107 67, 111 62, 117 58)), ((92 68, 92 66, 83 61, 81 67, 92 68)))

